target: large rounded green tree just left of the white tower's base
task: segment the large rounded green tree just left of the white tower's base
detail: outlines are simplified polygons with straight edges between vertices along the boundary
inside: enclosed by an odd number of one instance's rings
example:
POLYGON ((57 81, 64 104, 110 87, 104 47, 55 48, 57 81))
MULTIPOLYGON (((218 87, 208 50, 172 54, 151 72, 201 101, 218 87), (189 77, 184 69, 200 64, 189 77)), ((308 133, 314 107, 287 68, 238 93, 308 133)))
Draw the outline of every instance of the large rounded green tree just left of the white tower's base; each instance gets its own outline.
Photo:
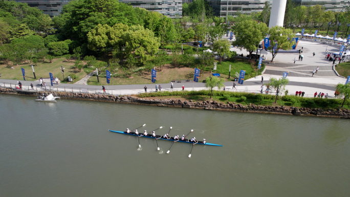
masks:
POLYGON ((258 23, 255 20, 244 20, 235 25, 233 30, 236 40, 234 45, 242 46, 249 52, 249 59, 252 53, 257 50, 257 47, 268 32, 268 27, 265 23, 258 23))

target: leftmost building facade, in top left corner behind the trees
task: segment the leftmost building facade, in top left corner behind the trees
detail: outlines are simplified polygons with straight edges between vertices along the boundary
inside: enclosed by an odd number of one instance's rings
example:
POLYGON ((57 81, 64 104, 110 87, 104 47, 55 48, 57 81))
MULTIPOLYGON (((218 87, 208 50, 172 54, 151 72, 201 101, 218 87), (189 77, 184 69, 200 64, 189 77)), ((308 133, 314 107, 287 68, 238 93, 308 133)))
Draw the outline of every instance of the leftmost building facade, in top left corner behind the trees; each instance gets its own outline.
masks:
POLYGON ((19 3, 27 3, 30 7, 37 7, 49 16, 58 16, 62 12, 64 5, 71 0, 15 0, 19 3))

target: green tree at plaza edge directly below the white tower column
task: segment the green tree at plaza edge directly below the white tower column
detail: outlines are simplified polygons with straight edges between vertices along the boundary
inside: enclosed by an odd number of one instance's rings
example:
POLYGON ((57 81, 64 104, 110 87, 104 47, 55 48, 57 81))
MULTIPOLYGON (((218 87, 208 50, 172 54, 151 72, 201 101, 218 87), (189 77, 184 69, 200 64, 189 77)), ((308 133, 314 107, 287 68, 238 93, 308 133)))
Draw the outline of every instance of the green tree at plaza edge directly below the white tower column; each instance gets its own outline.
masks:
POLYGON ((271 46, 268 48, 272 51, 272 59, 276 57, 279 49, 283 49, 285 51, 291 50, 295 41, 291 41, 294 37, 293 31, 291 29, 284 29, 280 26, 272 27, 269 31, 271 46), (275 43, 277 43, 277 48, 273 50, 275 43))

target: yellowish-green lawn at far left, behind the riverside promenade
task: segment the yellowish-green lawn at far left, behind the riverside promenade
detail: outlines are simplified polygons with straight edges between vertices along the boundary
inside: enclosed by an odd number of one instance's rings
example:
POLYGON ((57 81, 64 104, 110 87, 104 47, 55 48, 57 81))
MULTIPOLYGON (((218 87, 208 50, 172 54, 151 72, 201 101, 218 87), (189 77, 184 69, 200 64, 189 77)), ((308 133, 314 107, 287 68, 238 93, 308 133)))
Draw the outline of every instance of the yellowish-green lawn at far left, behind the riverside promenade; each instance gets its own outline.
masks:
POLYGON ((40 77, 50 78, 49 73, 52 73, 53 77, 58 77, 58 79, 62 81, 63 76, 60 69, 61 66, 65 68, 64 78, 67 79, 67 77, 71 73, 76 74, 77 79, 74 80, 74 82, 78 81, 79 79, 83 78, 86 75, 86 73, 83 70, 81 70, 81 72, 77 72, 74 69, 74 63, 72 61, 66 62, 64 57, 53 59, 52 63, 45 61, 45 62, 38 63, 37 66, 34 66, 36 79, 34 79, 32 67, 31 67, 31 64, 29 63, 19 64, 18 66, 14 66, 14 69, 7 68, 5 64, 2 64, 0 65, 0 72, 1 72, 2 79, 23 80, 21 68, 24 68, 26 71, 27 81, 39 80, 40 77))

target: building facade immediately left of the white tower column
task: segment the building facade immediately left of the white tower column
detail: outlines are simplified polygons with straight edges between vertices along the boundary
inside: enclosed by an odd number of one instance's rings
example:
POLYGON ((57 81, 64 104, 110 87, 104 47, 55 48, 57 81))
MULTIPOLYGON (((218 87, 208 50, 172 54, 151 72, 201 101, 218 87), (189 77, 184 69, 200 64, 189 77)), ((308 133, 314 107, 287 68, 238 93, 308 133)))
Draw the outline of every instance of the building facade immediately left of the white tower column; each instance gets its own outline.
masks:
POLYGON ((250 14, 261 12, 265 6, 265 2, 266 0, 211 0, 209 1, 209 5, 213 7, 216 16, 226 17, 227 12, 228 15, 233 16, 237 15, 237 13, 250 14))

